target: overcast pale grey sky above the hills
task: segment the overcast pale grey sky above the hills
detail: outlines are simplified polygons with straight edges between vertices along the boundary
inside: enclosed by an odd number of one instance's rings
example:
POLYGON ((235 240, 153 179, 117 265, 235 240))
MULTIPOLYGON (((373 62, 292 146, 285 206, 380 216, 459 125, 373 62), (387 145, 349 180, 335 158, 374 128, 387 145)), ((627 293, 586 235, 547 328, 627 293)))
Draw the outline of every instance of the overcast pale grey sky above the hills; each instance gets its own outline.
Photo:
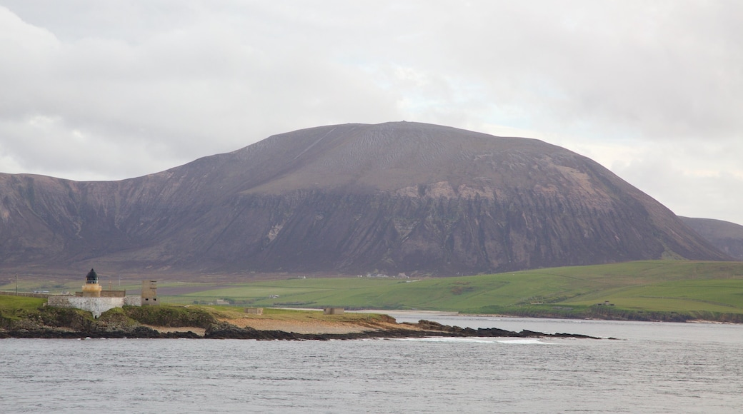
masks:
POLYGON ((0 0, 0 172, 121 180, 347 122, 542 139, 743 224, 743 1, 0 0))

